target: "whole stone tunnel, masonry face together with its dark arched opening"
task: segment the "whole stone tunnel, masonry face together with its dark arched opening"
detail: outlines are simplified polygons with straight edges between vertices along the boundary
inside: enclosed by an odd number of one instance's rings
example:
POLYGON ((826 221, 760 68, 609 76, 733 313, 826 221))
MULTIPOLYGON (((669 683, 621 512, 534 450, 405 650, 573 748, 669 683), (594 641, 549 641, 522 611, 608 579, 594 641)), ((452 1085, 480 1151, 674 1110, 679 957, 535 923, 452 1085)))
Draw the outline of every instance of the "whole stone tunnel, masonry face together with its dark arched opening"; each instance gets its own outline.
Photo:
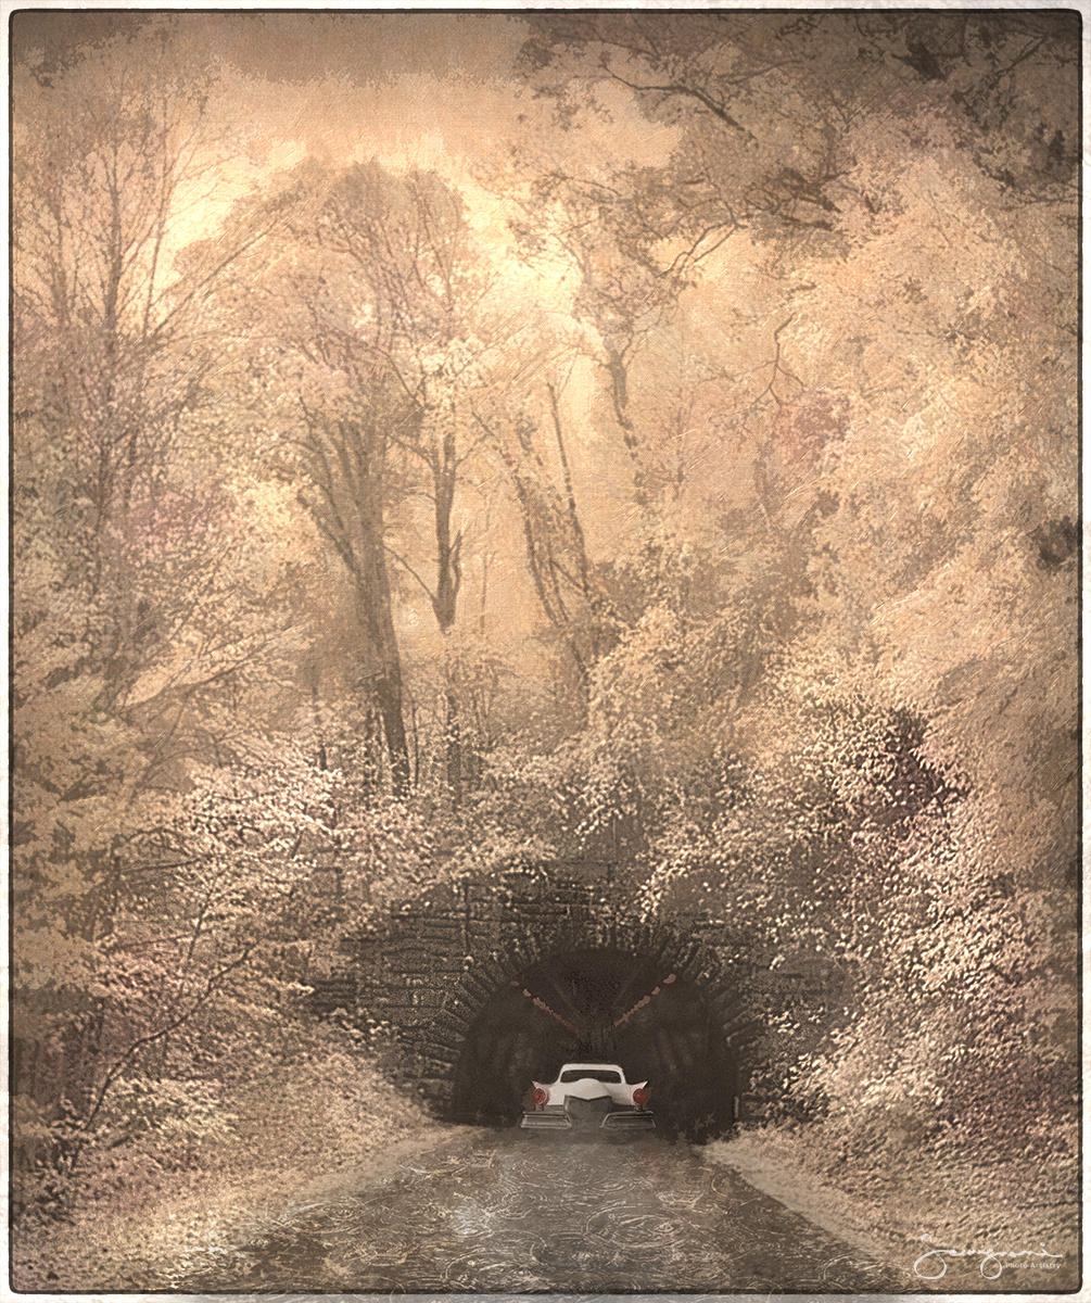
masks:
POLYGON ((650 1083, 668 1135, 723 1135, 758 1111, 773 1015, 838 993, 823 966, 773 972, 728 920, 639 921, 615 878, 585 860, 434 887, 345 936, 315 1006, 389 1023, 398 1076, 449 1121, 514 1122, 531 1080, 601 1059, 650 1083))

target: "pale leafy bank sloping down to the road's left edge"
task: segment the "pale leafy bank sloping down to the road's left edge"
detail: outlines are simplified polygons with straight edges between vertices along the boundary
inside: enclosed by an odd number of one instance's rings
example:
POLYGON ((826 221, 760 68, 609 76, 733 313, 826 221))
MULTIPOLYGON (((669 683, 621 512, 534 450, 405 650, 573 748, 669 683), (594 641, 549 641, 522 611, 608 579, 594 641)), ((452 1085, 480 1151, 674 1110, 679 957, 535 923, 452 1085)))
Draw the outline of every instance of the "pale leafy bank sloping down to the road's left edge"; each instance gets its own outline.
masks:
POLYGON ((12 1283, 46 1293, 177 1289, 187 1261, 245 1243, 331 1191, 465 1135, 393 1087, 380 1053, 328 1024, 216 1078, 215 1134, 161 1131, 96 1156, 64 1216, 27 1216, 12 1283))

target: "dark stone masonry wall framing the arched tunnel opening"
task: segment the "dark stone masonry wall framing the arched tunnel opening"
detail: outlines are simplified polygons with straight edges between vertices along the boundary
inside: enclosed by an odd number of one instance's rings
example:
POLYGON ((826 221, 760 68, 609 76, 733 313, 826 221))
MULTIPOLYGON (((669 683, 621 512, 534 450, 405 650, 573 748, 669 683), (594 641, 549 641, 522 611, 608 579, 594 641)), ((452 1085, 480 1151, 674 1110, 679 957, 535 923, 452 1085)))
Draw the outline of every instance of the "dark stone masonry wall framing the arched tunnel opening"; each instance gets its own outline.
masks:
MULTIPOLYGON (((314 1007, 388 1023, 404 1049, 404 1078, 443 1114, 476 1009, 549 954, 594 947, 657 952, 708 990, 725 1045, 738 1053, 754 1046, 759 1057, 776 1012, 801 1005, 828 1009, 842 998, 828 966, 802 962, 772 971, 771 955, 754 938, 741 955, 726 920, 680 915, 639 923, 618 896, 615 872, 612 863, 569 861, 434 887, 393 907, 380 926, 346 933, 335 969, 310 980, 314 1007)), ((743 1113, 760 1104, 750 1091, 743 1113)))

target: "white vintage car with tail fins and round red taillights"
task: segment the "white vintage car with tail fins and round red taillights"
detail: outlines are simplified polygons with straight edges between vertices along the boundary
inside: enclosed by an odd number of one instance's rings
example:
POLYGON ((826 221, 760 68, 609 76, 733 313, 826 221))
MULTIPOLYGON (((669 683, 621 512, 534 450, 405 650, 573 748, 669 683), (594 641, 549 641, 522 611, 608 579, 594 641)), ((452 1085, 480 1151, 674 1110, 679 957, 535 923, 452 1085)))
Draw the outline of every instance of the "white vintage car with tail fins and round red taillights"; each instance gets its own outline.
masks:
POLYGON ((565 1063, 557 1080, 532 1083, 529 1131, 654 1131, 648 1083, 625 1080, 617 1063, 565 1063))

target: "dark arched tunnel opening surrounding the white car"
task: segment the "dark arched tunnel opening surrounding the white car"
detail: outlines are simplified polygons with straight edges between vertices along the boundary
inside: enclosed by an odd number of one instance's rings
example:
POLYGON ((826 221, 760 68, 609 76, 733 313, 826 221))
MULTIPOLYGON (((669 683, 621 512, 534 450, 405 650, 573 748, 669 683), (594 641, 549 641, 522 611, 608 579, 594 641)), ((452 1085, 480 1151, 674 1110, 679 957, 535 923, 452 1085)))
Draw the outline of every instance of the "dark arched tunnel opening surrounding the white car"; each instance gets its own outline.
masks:
POLYGON ((466 1028, 452 1114, 486 1124, 518 1119, 531 1080, 561 1063, 620 1063, 647 1079, 660 1130, 707 1140, 734 1121, 738 1066, 724 1045, 716 993, 669 958, 621 949, 568 950, 504 981, 466 1028))

